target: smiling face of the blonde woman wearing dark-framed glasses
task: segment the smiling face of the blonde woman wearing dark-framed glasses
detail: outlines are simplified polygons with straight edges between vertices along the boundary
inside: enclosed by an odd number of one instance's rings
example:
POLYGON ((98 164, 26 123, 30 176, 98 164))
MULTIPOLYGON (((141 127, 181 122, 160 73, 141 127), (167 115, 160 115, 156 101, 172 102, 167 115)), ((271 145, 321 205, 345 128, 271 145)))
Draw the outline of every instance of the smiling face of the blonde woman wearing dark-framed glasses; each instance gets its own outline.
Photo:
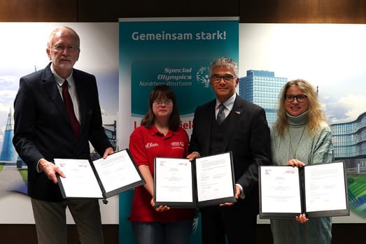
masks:
MULTIPOLYGON (((292 85, 288 87, 285 95, 304 95, 304 92, 302 92, 302 89, 300 89, 297 85, 292 85)), ((309 101, 307 98, 304 99, 301 103, 297 101, 297 99, 293 99, 293 101, 286 101, 285 100, 285 109, 286 112, 289 113, 292 116, 301 115, 305 111, 307 111, 309 108, 309 101)))

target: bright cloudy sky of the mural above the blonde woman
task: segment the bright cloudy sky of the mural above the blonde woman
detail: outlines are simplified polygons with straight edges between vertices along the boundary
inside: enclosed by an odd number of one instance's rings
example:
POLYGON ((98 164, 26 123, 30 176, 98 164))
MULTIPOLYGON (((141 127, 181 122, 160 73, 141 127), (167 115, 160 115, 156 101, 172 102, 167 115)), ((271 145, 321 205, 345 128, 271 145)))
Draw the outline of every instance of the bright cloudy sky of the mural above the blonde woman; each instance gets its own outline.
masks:
POLYGON ((318 87, 331 124, 366 112, 365 24, 240 24, 239 73, 274 71, 318 87))

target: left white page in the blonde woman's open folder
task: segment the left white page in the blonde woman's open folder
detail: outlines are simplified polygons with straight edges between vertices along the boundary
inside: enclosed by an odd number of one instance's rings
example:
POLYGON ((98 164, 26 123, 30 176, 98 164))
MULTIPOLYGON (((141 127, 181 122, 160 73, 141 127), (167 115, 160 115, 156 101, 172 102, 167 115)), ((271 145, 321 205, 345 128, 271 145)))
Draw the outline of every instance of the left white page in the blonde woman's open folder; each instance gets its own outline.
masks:
POLYGON ((260 194, 262 213, 301 213, 298 168, 261 166, 260 194))

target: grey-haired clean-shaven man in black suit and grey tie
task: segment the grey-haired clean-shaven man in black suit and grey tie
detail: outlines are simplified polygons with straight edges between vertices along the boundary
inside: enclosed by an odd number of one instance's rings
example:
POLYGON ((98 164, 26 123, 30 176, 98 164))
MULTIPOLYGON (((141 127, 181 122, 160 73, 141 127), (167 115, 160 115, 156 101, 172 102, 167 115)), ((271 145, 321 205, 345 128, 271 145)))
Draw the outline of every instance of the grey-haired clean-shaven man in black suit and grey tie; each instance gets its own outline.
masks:
POLYGON ((236 94, 238 66, 220 57, 210 65, 216 99, 197 107, 190 138, 190 160, 232 151, 236 203, 200 208, 202 243, 255 243, 258 166, 272 164, 265 110, 236 94), (221 108, 221 109, 220 109, 221 108))

